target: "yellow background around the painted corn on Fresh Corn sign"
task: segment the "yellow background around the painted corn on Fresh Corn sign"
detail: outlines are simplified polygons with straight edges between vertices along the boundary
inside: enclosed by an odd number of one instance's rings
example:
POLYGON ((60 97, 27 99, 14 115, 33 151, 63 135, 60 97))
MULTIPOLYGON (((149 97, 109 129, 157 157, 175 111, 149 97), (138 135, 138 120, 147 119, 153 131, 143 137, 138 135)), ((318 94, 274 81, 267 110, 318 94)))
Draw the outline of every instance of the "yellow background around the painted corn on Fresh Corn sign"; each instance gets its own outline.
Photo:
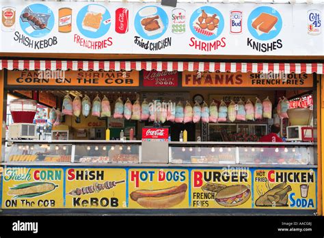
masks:
MULTIPOLYGON (((63 208, 63 181, 64 172, 60 168, 3 168, 3 189, 2 189, 2 208, 3 209, 48 209, 63 208), (40 179, 37 180, 36 178, 40 179), (46 182, 57 185, 49 193, 33 198, 14 198, 10 193, 19 193, 21 189, 13 190, 12 187, 23 183, 46 182), (16 204, 16 205, 15 205, 16 204)), ((32 187, 29 187, 32 191, 32 187)), ((23 194, 27 194, 25 189, 23 194)))

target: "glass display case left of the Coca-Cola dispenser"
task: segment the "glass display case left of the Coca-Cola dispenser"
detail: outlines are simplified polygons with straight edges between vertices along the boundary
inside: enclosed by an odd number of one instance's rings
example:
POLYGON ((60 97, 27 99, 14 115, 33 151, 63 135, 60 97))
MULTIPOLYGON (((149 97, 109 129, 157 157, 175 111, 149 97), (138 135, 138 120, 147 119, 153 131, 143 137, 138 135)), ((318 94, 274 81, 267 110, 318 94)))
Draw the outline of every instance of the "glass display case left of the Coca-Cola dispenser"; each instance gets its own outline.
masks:
POLYGON ((11 141, 7 163, 139 163, 141 141, 11 141))

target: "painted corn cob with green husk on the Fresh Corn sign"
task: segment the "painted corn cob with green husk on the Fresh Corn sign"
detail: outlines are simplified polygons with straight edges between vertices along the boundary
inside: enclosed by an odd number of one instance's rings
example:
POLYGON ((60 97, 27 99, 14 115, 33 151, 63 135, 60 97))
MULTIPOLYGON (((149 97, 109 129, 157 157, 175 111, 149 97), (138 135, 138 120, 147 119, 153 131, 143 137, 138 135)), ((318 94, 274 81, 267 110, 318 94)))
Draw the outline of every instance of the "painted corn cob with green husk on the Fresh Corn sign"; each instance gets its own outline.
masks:
POLYGON ((34 198, 37 196, 42 196, 53 191, 58 185, 50 182, 33 182, 33 183, 22 183, 20 185, 15 185, 10 187, 8 195, 14 196, 16 198, 34 198))

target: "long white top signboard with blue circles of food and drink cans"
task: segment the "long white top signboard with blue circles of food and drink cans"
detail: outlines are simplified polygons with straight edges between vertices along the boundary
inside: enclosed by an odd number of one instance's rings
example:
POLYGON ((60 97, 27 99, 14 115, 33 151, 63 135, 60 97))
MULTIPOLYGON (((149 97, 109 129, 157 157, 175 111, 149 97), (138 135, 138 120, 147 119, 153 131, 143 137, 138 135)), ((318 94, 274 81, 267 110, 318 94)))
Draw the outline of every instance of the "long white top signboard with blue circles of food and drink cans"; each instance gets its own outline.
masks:
POLYGON ((3 52, 323 55, 323 5, 1 1, 0 8, 3 52))

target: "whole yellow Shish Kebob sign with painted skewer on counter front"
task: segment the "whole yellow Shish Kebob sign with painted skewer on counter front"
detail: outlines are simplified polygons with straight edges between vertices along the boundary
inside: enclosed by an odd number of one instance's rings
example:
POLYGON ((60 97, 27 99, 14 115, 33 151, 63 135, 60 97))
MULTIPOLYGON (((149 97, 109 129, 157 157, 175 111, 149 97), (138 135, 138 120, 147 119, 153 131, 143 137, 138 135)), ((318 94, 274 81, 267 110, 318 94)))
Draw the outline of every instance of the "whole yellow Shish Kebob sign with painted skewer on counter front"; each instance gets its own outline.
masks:
POLYGON ((126 170, 68 168, 66 208, 126 208, 126 170))

